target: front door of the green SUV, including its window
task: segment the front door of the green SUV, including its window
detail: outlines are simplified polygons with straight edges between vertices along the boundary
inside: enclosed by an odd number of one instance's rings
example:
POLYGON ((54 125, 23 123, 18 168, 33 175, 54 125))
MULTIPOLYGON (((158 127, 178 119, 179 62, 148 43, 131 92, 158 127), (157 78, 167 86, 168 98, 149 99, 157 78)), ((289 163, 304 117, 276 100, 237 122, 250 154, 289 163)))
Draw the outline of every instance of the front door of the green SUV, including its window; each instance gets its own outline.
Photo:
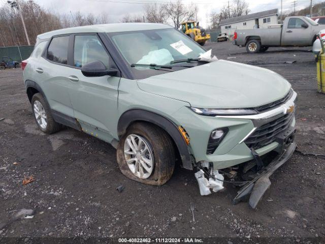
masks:
POLYGON ((113 60, 97 35, 75 35, 74 67, 70 79, 73 87, 70 98, 74 117, 88 134, 111 142, 116 134, 117 98, 120 77, 85 77, 83 65, 101 61, 109 68, 116 68, 113 60))

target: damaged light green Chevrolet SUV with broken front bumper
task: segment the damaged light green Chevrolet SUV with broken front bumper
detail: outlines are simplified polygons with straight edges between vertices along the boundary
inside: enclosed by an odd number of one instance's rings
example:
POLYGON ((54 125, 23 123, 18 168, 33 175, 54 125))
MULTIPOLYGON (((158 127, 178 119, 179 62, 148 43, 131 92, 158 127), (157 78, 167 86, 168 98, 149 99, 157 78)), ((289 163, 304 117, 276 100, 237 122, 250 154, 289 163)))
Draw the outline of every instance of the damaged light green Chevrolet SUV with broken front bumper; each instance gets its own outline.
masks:
POLYGON ((257 194, 253 206, 295 150, 297 94, 270 70, 212 60, 169 25, 119 23, 39 35, 22 68, 44 133, 64 125, 111 143, 144 184, 165 184, 175 164, 197 172, 202 195, 235 182, 234 202, 257 194))

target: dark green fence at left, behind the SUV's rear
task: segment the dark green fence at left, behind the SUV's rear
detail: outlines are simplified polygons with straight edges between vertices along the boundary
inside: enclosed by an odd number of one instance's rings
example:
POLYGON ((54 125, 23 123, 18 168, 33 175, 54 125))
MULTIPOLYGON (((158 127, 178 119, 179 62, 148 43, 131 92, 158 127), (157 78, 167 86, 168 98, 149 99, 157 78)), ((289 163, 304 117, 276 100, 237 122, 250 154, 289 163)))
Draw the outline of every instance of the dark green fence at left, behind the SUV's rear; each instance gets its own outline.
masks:
POLYGON ((12 57, 14 61, 21 62, 30 56, 33 49, 34 46, 0 47, 0 58, 12 57))

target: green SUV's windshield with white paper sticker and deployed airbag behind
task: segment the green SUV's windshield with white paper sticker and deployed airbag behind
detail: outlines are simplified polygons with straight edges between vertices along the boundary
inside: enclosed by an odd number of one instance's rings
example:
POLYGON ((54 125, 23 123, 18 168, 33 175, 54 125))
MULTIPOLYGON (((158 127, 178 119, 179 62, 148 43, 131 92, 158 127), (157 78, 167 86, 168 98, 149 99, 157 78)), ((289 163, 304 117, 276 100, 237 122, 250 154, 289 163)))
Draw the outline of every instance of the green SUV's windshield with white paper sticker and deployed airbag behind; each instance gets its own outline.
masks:
POLYGON ((128 64, 169 65, 177 59, 197 58, 205 50, 176 29, 109 34, 128 64))

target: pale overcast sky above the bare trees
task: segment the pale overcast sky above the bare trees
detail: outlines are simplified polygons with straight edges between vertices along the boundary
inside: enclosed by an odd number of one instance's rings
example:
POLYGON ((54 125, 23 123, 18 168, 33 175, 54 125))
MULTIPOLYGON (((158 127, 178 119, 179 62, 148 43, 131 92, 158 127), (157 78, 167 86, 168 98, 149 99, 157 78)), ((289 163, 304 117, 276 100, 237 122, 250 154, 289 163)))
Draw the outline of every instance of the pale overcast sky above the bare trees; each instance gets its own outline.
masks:
MULTIPOLYGON (((176 0, 34 0, 40 6, 54 10, 57 13, 70 13, 80 11, 82 13, 101 14, 108 13, 111 22, 120 22, 123 16, 141 15, 144 4, 163 4, 165 2, 176 2, 176 0)), ((294 0, 283 0, 283 12, 293 11, 294 0)), ((227 0, 183 0, 186 5, 196 4, 199 8, 198 20, 200 25, 207 27, 211 12, 219 12, 222 6, 227 5, 227 0)), ((232 2, 232 0, 230 0, 232 2)), ((322 2, 313 0, 313 4, 322 2)), ((250 13, 270 9, 281 9, 281 0, 246 0, 250 13)), ((296 10, 310 5, 310 0, 297 0, 296 10)))

